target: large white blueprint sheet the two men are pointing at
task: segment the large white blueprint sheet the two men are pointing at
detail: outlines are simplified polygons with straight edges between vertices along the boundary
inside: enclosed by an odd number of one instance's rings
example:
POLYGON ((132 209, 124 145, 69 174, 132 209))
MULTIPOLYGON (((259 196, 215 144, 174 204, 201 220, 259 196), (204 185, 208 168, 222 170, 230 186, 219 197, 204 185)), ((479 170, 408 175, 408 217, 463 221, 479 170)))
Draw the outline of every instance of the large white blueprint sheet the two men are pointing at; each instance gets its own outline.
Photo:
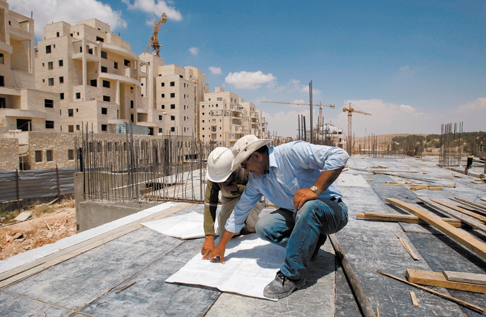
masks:
POLYGON ((256 234, 237 236, 227 245, 226 264, 203 261, 198 253, 165 282, 216 287, 269 300, 263 296, 263 288, 275 278, 284 252, 283 247, 263 241, 256 234))

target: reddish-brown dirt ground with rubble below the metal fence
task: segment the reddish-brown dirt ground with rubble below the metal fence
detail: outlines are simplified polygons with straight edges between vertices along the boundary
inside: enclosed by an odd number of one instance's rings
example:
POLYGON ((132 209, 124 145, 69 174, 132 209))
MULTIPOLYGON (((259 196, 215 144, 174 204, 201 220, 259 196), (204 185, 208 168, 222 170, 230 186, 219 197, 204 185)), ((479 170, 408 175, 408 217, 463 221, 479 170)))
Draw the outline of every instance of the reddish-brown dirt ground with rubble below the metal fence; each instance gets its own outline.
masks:
POLYGON ((76 234, 76 213, 72 205, 44 206, 28 211, 32 215, 25 221, 0 225, 0 260, 76 234))

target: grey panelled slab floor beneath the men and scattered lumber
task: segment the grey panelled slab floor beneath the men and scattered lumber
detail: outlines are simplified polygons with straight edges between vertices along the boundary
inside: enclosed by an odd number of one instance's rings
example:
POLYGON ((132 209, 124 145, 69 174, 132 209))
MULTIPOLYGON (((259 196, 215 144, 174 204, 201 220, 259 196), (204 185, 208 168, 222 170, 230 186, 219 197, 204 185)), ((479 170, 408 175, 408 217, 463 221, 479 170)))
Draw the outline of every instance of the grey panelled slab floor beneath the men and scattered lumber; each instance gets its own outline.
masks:
MULTIPOLYGON (((400 278, 404 278, 407 268, 484 273, 484 259, 428 225, 367 220, 357 218, 356 213, 406 213, 385 204, 387 197, 410 204, 415 204, 417 196, 445 201, 454 196, 474 200, 486 196, 486 186, 471 183, 474 178, 470 176, 455 177, 455 172, 415 159, 352 157, 348 164, 360 169, 385 165, 389 170, 398 171, 394 174, 456 185, 456 188, 442 191, 411 191, 405 186, 384 185, 390 181, 400 182, 403 180, 400 176, 374 175, 352 169, 338 179, 350 219, 336 236, 373 310, 378 307, 382 317, 481 316, 380 275, 376 270, 400 278), (419 261, 410 257, 395 234, 412 246, 419 261), (412 291, 417 294, 419 307, 411 305, 409 293, 412 291)), ((203 206, 191 205, 172 215, 192 211, 202 212, 203 206)), ((0 316, 361 316, 329 241, 321 248, 318 259, 312 262, 304 289, 278 302, 270 302, 207 287, 165 283, 167 277, 199 252, 202 239, 171 238, 139 226, 137 217, 131 219, 134 229, 130 232, 82 254, 64 255, 66 258, 60 263, 1 289, 0 316), (132 282, 136 283, 116 293, 132 282)), ((40 254, 29 252, 22 255, 24 266, 28 266, 25 258, 29 254, 40 254)), ((484 307, 486 303, 484 294, 434 289, 478 306, 484 307)))

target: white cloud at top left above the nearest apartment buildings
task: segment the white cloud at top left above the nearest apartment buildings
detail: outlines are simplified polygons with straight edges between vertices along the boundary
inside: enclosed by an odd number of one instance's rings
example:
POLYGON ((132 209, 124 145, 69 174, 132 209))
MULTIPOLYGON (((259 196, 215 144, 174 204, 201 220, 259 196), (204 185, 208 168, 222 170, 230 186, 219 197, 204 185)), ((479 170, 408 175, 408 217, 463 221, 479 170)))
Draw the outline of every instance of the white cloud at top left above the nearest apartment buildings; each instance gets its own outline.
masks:
POLYGON ((115 11, 109 4, 96 0, 8 0, 10 10, 30 17, 33 12, 35 37, 43 39, 43 28, 52 22, 64 21, 71 25, 76 22, 97 18, 108 23, 112 31, 126 28, 122 12, 115 11), (48 10, 46 8, 49 8, 48 10))

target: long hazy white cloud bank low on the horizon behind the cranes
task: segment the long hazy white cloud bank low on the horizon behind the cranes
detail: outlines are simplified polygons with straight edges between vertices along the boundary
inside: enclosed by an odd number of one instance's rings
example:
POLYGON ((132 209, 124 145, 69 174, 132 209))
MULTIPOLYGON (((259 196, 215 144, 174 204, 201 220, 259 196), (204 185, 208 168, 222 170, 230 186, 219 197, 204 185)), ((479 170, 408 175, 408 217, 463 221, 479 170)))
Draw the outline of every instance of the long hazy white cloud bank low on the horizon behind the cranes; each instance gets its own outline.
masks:
MULTIPOLYGON (((295 102, 299 102, 296 100, 295 102)), ((307 102, 307 101, 305 101, 307 102)), ((323 107, 324 122, 331 122, 348 133, 348 107, 350 101, 345 101, 335 109, 323 107)), ((464 131, 485 131, 486 98, 478 98, 460 106, 442 108, 426 112, 416 106, 387 103, 380 99, 351 100, 357 110, 371 113, 365 115, 354 112, 352 116, 352 133, 356 137, 369 136, 371 133, 422 133, 440 134, 441 124, 463 122, 464 131)), ((269 131, 277 131, 277 135, 295 137, 298 115, 306 117, 307 129, 310 122, 309 107, 299 110, 292 105, 259 104, 257 108, 265 109, 269 131)), ((313 124, 318 122, 319 107, 313 108, 313 124)))

